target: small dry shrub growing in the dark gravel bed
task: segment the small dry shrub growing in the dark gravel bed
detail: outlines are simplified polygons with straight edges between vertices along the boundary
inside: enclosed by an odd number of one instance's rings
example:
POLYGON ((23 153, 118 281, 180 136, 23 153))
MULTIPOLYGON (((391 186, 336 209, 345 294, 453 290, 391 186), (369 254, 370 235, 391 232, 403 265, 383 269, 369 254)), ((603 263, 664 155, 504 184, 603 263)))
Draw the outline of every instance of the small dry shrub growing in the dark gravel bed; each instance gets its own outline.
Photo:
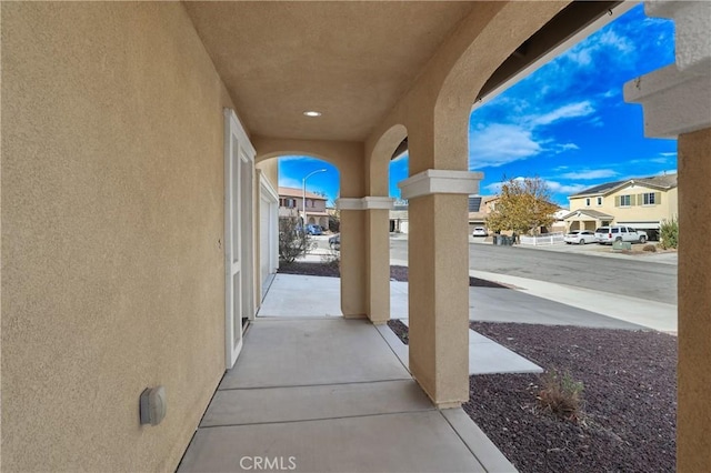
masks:
POLYGON ((569 371, 550 370, 542 375, 538 403, 543 411, 577 422, 582 409, 583 383, 573 380, 569 371))

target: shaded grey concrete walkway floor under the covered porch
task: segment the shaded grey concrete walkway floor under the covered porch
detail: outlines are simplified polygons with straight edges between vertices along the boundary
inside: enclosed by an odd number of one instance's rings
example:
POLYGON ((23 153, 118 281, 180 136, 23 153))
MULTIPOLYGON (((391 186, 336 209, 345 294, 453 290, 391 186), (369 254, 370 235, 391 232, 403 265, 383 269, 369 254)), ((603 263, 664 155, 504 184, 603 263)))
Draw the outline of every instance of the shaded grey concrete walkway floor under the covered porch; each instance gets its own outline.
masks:
POLYGON ((375 326, 342 318, 252 323, 179 471, 253 471, 256 462, 304 472, 515 471, 464 411, 433 407, 375 326))

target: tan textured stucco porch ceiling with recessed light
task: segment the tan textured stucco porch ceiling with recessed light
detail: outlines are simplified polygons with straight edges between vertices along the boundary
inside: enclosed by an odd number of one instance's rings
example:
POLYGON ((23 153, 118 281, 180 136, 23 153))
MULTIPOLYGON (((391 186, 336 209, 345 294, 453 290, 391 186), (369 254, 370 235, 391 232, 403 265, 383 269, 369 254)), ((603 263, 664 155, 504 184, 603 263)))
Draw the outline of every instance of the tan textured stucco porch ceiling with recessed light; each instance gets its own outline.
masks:
POLYGON ((362 141, 475 3, 184 6, 251 133, 362 141))

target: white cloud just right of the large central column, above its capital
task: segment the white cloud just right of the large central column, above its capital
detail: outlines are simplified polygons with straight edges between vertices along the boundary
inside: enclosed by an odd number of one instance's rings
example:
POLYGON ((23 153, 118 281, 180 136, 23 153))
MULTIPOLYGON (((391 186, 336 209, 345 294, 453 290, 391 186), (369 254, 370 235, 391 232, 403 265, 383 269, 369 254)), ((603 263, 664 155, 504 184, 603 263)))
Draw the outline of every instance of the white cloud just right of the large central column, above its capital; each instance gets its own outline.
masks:
POLYGON ((495 168, 543 151, 530 130, 515 124, 493 123, 472 130, 469 140, 473 169, 495 168))

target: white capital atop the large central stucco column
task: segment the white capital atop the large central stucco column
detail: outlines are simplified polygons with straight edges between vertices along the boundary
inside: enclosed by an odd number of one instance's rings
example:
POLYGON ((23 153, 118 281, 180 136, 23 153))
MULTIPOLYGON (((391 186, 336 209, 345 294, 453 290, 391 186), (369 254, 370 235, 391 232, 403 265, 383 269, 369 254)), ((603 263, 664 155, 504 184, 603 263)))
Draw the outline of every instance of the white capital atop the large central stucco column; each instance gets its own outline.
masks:
POLYGON ((475 194, 479 192, 481 172, 428 169, 398 183, 403 199, 417 199, 431 194, 475 194))

